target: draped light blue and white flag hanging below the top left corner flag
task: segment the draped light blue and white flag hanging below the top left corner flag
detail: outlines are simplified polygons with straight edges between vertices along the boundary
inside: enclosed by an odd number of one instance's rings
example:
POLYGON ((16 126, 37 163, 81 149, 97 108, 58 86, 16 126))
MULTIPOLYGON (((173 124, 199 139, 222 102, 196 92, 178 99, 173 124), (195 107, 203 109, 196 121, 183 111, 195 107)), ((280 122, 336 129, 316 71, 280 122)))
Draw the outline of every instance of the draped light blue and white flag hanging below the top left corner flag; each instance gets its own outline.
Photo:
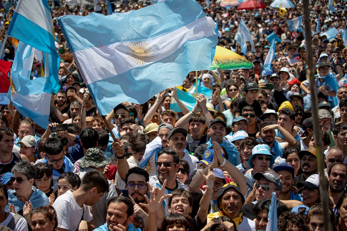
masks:
POLYGON ((49 124, 51 94, 60 89, 57 76, 60 58, 45 54, 47 78, 31 80, 34 50, 32 46, 19 41, 12 64, 11 87, 7 97, 11 99, 20 114, 30 117, 40 127, 45 128, 49 124), (56 77, 53 73, 56 73, 56 77))

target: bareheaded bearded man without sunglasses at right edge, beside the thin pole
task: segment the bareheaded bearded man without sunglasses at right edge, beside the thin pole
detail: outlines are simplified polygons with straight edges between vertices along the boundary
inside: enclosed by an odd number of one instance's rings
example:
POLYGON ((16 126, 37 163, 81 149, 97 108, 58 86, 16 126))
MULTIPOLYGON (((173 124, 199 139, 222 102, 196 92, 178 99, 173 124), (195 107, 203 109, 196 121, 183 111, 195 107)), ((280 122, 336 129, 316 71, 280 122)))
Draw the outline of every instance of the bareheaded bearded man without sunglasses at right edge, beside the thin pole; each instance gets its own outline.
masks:
POLYGON ((333 163, 330 165, 328 175, 330 204, 334 206, 345 193, 347 167, 341 162, 333 163))

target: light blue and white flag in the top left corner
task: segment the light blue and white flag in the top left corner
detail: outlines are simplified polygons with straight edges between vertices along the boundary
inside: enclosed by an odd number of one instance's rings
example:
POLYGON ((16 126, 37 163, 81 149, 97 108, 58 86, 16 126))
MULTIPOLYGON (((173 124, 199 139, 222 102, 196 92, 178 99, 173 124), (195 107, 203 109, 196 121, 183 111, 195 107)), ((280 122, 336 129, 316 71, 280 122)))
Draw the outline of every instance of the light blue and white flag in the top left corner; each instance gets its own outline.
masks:
POLYGON ((54 25, 47 0, 19 0, 7 35, 40 51, 59 56, 54 43, 54 25))

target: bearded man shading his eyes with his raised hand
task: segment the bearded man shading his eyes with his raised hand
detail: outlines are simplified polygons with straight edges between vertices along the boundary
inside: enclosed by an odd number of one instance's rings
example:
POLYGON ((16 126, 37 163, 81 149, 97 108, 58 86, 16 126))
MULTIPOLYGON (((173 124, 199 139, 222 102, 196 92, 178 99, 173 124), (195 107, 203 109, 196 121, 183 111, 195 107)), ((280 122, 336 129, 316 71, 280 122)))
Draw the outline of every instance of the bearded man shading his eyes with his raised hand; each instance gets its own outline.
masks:
POLYGON ((283 151, 286 148, 296 146, 294 137, 278 124, 271 124, 270 122, 262 123, 259 127, 259 136, 265 144, 270 146, 272 152, 275 153, 275 158, 282 157, 283 151), (283 135, 287 142, 279 143, 275 140, 276 129, 283 135))

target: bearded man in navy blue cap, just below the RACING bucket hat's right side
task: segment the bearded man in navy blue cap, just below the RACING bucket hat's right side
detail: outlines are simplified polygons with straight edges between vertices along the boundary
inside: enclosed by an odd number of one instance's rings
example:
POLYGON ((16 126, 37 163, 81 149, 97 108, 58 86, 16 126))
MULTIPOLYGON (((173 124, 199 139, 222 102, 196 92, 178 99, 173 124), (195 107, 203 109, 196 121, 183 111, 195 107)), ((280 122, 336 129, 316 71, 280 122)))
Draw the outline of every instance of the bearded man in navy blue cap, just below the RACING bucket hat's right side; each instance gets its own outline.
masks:
POLYGON ((279 200, 287 201, 287 200, 297 200, 302 201, 303 198, 299 194, 295 194, 292 189, 294 185, 294 176, 295 171, 294 168, 291 167, 288 163, 280 163, 273 168, 273 171, 280 176, 283 187, 282 192, 278 196, 279 200))

